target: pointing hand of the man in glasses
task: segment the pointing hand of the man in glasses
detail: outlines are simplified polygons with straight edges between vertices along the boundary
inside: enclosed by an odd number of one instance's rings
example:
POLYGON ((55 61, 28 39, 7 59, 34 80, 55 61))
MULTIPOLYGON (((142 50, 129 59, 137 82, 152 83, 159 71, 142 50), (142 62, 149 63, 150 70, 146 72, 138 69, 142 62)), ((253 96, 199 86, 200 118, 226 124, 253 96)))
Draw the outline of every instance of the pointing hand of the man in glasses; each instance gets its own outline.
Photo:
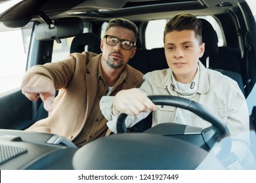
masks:
POLYGON ((26 73, 20 88, 28 99, 37 101, 38 98, 41 97, 45 110, 53 110, 55 88, 50 78, 35 73, 26 73))

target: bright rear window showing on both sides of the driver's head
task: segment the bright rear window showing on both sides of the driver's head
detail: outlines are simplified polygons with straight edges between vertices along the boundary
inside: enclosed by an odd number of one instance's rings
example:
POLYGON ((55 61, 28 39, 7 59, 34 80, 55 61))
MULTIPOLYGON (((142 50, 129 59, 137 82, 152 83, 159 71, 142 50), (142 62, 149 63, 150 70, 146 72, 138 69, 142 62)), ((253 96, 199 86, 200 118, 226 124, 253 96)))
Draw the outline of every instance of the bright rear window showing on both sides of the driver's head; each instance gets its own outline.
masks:
MULTIPOLYGON (((208 22, 213 25, 215 31, 217 32, 217 36, 219 39, 218 46, 223 46, 223 35, 221 32, 221 27, 218 22, 213 18, 213 16, 198 16, 198 18, 203 18, 208 20, 208 22)), ((146 49, 150 50, 152 48, 161 48, 163 47, 163 31, 165 24, 168 22, 168 19, 161 20, 151 20, 148 22, 145 31, 146 37, 146 49)))

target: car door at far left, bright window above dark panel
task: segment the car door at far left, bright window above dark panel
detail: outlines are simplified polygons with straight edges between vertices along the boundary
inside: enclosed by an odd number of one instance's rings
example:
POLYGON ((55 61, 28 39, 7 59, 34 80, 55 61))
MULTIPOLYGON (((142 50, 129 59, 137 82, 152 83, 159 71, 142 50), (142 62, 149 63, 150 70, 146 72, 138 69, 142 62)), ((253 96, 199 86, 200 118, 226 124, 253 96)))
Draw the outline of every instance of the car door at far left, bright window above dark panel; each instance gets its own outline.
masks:
POLYGON ((9 28, 0 24, 0 128, 24 129, 32 123, 32 102, 21 93, 33 24, 9 28))

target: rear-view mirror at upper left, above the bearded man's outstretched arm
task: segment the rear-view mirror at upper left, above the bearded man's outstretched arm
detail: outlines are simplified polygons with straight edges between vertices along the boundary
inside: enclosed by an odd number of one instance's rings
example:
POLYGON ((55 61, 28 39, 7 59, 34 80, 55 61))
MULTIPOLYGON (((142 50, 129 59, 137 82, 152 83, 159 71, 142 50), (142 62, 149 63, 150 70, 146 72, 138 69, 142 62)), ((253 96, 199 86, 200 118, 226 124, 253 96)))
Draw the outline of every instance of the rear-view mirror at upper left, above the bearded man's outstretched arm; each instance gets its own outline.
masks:
POLYGON ((51 25, 42 23, 35 28, 35 38, 40 41, 60 42, 60 39, 74 37, 80 33, 83 33, 83 21, 76 17, 60 18, 54 20, 51 25))

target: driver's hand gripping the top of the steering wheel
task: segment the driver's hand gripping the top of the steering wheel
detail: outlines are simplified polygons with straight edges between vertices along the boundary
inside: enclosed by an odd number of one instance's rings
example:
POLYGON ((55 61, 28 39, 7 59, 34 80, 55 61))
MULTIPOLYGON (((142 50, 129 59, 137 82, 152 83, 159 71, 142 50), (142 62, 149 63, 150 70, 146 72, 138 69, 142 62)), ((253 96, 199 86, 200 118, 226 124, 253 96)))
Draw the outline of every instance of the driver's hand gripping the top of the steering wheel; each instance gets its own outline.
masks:
POLYGON ((152 101, 137 88, 121 90, 113 101, 112 113, 117 116, 120 112, 134 116, 148 109, 156 110, 152 101))

